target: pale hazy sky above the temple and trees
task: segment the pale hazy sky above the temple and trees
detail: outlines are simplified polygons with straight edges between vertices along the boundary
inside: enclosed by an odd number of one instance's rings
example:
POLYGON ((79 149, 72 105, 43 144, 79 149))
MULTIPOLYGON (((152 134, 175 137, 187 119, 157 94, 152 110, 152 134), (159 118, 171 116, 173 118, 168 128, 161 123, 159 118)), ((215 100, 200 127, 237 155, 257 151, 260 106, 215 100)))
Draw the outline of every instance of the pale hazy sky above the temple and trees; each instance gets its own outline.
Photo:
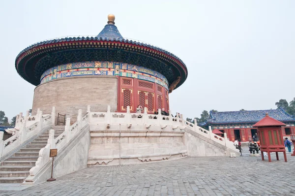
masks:
POLYGON ((35 87, 15 70, 19 52, 44 39, 97 35, 110 13, 123 37, 186 64, 186 81, 170 94, 173 113, 275 109, 295 97, 294 10, 295 0, 1 1, 0 110, 11 119, 32 106, 35 87))

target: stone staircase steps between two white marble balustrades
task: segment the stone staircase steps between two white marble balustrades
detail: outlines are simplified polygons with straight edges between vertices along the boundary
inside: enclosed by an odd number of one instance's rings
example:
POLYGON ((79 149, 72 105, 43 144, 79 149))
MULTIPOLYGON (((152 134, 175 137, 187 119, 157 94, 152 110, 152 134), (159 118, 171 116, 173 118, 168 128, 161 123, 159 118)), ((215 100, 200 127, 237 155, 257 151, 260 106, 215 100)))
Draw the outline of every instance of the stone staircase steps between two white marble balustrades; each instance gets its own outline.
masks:
MULTIPOLYGON (((64 126, 55 126, 53 129, 56 138, 64 131, 64 126)), ((48 138, 49 130, 1 162, 0 183, 23 183, 29 176, 30 168, 35 166, 39 151, 46 146, 48 138)))

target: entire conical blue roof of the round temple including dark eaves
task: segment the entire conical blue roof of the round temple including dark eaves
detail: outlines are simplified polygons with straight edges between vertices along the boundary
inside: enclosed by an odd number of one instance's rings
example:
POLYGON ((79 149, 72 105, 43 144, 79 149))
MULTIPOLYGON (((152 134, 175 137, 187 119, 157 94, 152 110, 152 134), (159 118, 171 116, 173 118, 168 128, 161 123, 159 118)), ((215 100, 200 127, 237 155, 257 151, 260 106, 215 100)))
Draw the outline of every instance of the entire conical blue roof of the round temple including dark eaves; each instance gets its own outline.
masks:
POLYGON ((187 78, 186 65, 174 54, 141 41, 122 37, 115 22, 108 24, 97 36, 73 36, 35 43, 19 53, 15 60, 17 72, 29 83, 40 84, 41 75, 49 68, 76 62, 106 61, 140 65, 164 75, 175 89, 187 78))

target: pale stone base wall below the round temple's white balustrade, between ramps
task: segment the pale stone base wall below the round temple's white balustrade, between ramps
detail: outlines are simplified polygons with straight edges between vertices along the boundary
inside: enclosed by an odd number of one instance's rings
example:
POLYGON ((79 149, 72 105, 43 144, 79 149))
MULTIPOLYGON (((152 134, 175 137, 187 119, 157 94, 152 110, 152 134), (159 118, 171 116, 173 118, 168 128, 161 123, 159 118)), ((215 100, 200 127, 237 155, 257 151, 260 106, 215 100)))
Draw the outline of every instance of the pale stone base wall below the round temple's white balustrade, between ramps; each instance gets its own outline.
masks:
POLYGON ((88 165, 133 164, 187 156, 183 131, 90 131, 88 165))

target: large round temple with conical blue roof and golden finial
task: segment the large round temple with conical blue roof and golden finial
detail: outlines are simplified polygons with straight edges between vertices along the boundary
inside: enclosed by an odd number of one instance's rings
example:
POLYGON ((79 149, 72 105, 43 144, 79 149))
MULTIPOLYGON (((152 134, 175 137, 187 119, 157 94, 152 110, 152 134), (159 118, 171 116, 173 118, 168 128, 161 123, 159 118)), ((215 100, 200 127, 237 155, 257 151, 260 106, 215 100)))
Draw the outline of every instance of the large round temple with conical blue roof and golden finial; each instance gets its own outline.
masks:
POLYGON ((34 90, 32 115, 40 108, 75 120, 87 105, 96 111, 135 112, 138 105, 153 114, 169 110, 169 93, 187 78, 186 65, 174 54, 147 43, 124 39, 115 16, 91 37, 46 40, 17 56, 17 72, 34 90))

